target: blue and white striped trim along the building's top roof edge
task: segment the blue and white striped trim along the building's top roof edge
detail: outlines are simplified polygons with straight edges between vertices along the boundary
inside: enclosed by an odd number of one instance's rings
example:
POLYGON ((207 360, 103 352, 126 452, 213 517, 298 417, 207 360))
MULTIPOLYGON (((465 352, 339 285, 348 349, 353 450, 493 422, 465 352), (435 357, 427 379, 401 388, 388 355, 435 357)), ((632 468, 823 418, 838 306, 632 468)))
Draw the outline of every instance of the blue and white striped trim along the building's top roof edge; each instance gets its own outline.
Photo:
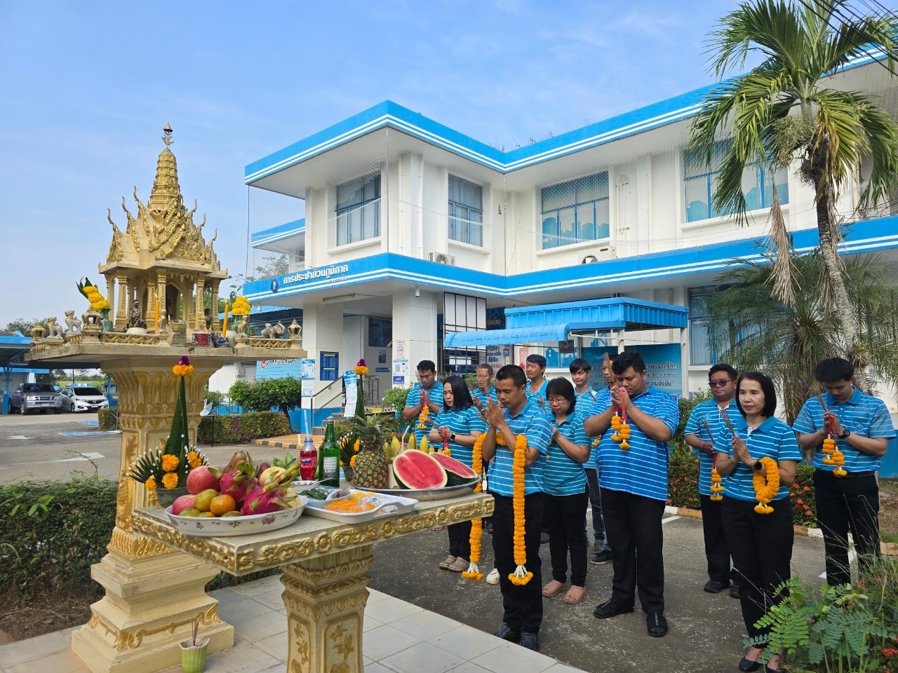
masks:
MULTIPOLYGON (((853 59, 847 66, 841 68, 841 71, 865 66, 873 60, 885 58, 885 53, 881 50, 871 50, 870 54, 872 56, 865 55, 853 59)), ((489 144, 481 143, 471 136, 459 133, 418 112, 404 108, 398 103, 383 101, 310 135, 298 143, 291 144, 248 164, 244 170, 243 181, 245 184, 251 184, 278 170, 284 170, 289 166, 304 162, 313 156, 387 126, 418 137, 437 147, 443 147, 493 170, 503 173, 511 172, 534 163, 556 159, 565 154, 579 152, 588 147, 610 143, 612 140, 690 118, 698 112, 705 94, 717 86, 718 83, 710 84, 665 101, 659 101, 644 108, 635 109, 617 117, 508 152, 502 152, 489 144)))

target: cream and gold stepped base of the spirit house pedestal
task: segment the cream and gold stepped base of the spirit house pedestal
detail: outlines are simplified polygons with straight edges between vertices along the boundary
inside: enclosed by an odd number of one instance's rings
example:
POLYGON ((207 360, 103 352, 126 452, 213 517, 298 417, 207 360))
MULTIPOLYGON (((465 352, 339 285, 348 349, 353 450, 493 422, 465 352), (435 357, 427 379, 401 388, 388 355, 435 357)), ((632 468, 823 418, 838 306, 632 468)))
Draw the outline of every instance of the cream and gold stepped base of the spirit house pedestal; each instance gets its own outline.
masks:
POLYGON ((208 651, 233 646, 233 626, 219 620, 205 584, 217 570, 139 533, 115 529, 110 553, 91 576, 106 596, 72 634, 72 651, 93 673, 154 673, 180 663, 178 643, 195 617, 208 651))

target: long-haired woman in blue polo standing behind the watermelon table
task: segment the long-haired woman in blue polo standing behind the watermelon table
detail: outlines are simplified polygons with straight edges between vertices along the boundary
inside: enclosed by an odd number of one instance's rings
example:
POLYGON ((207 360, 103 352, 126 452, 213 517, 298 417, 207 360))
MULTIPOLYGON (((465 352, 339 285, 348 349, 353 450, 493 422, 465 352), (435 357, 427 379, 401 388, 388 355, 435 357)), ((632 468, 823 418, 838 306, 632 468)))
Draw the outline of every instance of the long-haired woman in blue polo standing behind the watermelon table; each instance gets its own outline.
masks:
MULTIPOLYGON (((487 429, 480 412, 471 401, 471 393, 461 376, 449 376, 443 383, 443 409, 436 415, 430 430, 430 441, 436 450, 449 440, 453 459, 471 468, 471 454, 477 436, 487 429)), ((449 555, 440 564, 443 570, 464 572, 471 559, 471 521, 453 523, 446 527, 449 534, 449 555)))

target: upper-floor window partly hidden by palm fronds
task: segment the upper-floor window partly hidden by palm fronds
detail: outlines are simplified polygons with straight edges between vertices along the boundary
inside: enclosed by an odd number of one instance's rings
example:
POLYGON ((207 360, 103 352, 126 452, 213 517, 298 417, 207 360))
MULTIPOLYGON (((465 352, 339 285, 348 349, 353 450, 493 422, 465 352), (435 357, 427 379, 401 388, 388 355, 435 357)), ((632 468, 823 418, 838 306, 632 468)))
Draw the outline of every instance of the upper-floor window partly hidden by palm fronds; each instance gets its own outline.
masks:
MULTIPOLYGON (((700 159, 700 153, 684 151, 683 188, 686 205, 686 222, 708 220, 711 217, 725 215, 711 204, 711 197, 718 187, 720 162, 729 149, 730 140, 721 140, 714 146, 711 165, 706 166, 700 159)), ((779 203, 788 204, 788 173, 779 169, 773 173, 779 203)), ((770 168, 753 163, 745 167, 742 173, 742 193, 745 196, 745 209, 758 210, 769 208, 773 201, 773 189, 770 186, 770 168)))

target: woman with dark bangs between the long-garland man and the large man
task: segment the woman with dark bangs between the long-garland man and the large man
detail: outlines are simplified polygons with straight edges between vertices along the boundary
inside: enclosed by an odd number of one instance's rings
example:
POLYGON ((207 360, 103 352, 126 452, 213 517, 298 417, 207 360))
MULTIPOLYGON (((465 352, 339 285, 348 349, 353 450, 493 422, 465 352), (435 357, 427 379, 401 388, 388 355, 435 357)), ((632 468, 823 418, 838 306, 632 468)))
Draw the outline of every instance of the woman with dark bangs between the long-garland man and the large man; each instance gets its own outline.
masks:
POLYGON ((543 520, 549 527, 549 553, 552 580, 542 588, 546 598, 563 590, 568 582, 570 553, 570 590, 564 602, 570 605, 583 599, 586 586, 586 473, 590 444, 583 419, 575 411, 577 393, 567 379, 550 380, 546 387, 552 437, 542 468, 543 520))

